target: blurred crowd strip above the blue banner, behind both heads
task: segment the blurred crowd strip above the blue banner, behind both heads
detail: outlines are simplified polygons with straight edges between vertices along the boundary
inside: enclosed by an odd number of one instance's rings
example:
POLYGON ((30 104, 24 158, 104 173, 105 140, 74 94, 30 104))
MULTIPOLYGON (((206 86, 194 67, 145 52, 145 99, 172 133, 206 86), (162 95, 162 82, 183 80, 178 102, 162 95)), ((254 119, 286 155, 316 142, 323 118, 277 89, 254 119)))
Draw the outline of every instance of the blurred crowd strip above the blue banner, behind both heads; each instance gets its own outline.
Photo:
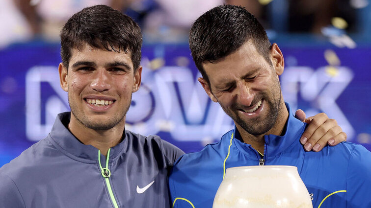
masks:
POLYGON ((141 26, 146 43, 183 43, 191 23, 223 3, 245 7, 265 26, 271 39, 292 33, 350 34, 370 41, 369 0, 1 0, 0 47, 32 40, 58 42, 60 28, 68 18, 95 4, 131 16, 141 26))

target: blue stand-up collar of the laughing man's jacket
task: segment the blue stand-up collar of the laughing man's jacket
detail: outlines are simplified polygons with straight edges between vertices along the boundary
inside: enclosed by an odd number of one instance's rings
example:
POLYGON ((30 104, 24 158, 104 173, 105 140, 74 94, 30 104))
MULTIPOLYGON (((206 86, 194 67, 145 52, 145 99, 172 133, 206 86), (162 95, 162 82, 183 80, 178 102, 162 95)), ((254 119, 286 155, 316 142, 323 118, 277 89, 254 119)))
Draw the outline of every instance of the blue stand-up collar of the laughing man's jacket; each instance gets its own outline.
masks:
MULTIPOLYGON (((306 124, 296 119, 291 113, 289 103, 286 103, 286 108, 289 112, 289 118, 286 122, 284 135, 265 135, 265 157, 271 158, 285 151, 293 142, 299 142, 301 135, 303 134, 306 124)), ((251 157, 257 157, 257 151, 251 147, 250 144, 246 144, 242 141, 241 136, 235 126, 234 130, 234 143, 237 148, 244 154, 247 154, 251 157)))

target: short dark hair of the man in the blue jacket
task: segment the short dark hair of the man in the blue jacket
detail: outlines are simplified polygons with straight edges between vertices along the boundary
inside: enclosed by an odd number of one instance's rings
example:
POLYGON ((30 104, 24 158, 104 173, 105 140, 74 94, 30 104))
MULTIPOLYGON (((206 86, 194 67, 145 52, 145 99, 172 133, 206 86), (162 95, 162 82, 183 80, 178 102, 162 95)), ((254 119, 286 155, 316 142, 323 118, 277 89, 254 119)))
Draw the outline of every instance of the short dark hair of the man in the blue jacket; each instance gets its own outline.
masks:
POLYGON ((250 39, 257 51, 271 63, 271 44, 265 30, 245 8, 220 5, 207 11, 193 23, 189 33, 189 47, 197 69, 209 85, 202 63, 226 57, 250 39))

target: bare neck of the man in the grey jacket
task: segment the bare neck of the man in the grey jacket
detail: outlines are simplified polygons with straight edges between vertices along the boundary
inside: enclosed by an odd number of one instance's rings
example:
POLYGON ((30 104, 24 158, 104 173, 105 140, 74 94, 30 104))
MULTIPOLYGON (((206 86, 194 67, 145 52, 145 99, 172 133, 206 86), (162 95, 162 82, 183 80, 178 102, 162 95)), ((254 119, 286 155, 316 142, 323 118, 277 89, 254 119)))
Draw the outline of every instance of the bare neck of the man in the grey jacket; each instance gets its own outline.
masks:
POLYGON ((68 124, 68 129, 83 144, 92 145, 106 156, 109 148, 120 143, 125 129, 125 118, 111 129, 94 130, 84 126, 71 113, 71 120, 68 124))

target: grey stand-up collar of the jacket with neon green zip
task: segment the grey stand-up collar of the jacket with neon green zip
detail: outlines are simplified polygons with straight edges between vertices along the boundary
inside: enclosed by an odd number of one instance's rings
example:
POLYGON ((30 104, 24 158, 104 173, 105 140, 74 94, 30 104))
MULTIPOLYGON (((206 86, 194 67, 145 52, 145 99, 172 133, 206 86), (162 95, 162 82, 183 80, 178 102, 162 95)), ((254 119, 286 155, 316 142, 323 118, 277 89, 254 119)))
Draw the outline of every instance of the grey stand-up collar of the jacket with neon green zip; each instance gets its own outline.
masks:
MULTIPOLYGON (((71 113, 61 113, 55 119, 52 131, 50 133, 51 139, 56 144, 57 148, 63 153, 72 157, 77 157, 82 160, 97 161, 98 149, 92 145, 85 145, 81 143, 67 128, 71 119, 71 113)), ((127 133, 125 131, 125 133, 127 133)), ((125 138, 128 138, 125 134, 125 138)), ((126 146, 127 139, 123 139, 119 144, 112 147, 109 154, 109 161, 112 162, 126 146)), ((101 157, 104 157, 101 155, 101 157)), ((102 159, 101 159, 102 160, 102 159)))

